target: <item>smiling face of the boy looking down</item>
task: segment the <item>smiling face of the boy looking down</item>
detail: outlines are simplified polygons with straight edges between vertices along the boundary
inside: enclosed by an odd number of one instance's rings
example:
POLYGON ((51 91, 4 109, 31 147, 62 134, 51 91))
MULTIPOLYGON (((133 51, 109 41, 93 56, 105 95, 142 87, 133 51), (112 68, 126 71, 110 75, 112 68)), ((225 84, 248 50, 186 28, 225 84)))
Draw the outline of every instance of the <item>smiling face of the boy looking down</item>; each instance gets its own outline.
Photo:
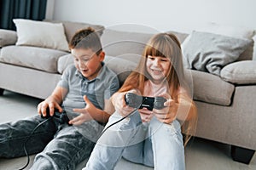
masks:
POLYGON ((71 54, 74 57, 74 65, 84 77, 88 80, 96 78, 102 68, 102 61, 105 57, 104 52, 97 55, 90 48, 72 48, 71 54))

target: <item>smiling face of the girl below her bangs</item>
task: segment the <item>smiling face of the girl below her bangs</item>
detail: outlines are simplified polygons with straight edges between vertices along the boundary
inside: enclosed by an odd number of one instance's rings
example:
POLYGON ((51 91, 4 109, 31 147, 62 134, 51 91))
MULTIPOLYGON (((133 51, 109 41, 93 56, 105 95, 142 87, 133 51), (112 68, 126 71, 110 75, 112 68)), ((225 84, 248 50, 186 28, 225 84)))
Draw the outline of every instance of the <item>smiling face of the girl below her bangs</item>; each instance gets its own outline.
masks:
POLYGON ((152 82, 160 83, 166 78, 171 68, 171 61, 166 57, 148 55, 146 69, 152 77, 152 82))

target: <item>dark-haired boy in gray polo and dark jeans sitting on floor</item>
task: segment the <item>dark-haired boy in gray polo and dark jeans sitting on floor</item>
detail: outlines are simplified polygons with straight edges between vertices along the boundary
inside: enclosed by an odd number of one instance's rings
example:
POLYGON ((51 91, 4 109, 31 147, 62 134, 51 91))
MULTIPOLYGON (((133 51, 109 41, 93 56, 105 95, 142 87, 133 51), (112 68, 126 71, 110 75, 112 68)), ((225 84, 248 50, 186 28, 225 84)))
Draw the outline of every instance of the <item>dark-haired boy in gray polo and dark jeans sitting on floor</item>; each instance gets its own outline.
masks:
POLYGON ((104 65, 102 43, 93 29, 76 32, 69 47, 74 65, 66 69, 53 93, 38 105, 39 116, 0 125, 0 157, 24 156, 26 143, 28 154, 41 151, 31 169, 70 170, 90 156, 102 124, 113 113, 109 99, 119 89, 119 80, 104 65), (54 116, 56 111, 66 111, 70 121, 60 123, 54 116), (49 120, 41 117, 47 112, 52 117, 49 120))

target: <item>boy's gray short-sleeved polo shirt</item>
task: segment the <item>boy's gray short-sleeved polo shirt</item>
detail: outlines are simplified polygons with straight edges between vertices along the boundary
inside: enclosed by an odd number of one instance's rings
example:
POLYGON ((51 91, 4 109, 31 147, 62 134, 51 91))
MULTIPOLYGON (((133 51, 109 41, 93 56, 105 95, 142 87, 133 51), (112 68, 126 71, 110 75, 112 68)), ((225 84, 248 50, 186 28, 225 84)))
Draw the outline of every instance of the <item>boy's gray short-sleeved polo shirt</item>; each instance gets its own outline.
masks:
POLYGON ((68 90, 62 103, 65 111, 73 112, 74 108, 84 108, 84 95, 93 105, 103 110, 104 99, 109 99, 119 89, 119 79, 104 63, 98 76, 93 80, 88 80, 74 65, 70 65, 64 71, 58 86, 68 90))

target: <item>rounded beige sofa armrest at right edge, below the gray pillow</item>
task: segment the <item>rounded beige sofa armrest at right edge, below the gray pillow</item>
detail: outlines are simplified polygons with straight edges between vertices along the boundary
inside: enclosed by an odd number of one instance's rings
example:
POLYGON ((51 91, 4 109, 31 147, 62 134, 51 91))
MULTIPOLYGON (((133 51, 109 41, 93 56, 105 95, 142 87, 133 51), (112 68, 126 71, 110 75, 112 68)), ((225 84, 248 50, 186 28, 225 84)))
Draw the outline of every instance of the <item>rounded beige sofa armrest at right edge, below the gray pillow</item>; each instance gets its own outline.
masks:
POLYGON ((226 65, 220 77, 234 84, 256 84, 256 61, 244 60, 226 65))

